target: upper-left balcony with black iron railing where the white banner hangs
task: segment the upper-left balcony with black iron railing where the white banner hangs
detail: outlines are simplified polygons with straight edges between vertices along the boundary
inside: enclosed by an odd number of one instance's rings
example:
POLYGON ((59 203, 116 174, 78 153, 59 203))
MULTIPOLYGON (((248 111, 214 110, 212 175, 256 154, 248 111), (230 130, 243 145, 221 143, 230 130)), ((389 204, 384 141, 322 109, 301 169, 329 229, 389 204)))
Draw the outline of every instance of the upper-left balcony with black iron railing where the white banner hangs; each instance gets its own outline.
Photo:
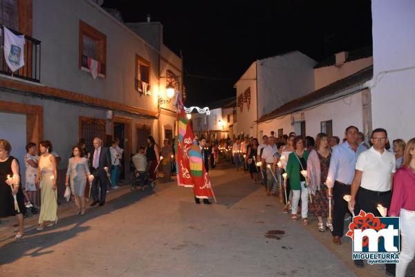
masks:
MULTIPOLYGON (((0 28, 0 43, 3 46, 4 29, 2 25, 0 25, 0 28)), ((15 35, 23 35, 20 32, 17 32, 16 30, 12 30, 10 28, 9 30, 12 31, 15 35)), ((12 71, 6 64, 6 59, 4 59, 4 57, 1 57, 0 74, 40 83, 41 41, 33 39, 33 37, 29 37, 28 35, 24 36, 24 40, 24 67, 19 68, 19 70, 16 70, 15 73, 12 73, 12 71)), ((1 56, 4 56, 3 51, 1 51, 1 56)))

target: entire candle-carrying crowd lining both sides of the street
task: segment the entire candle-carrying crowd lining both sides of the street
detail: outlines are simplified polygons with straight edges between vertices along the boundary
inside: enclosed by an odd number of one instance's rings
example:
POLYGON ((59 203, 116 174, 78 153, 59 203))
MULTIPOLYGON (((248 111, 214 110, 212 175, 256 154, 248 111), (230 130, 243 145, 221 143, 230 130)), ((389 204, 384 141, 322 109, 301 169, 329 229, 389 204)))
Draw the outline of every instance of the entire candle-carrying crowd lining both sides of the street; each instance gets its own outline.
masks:
MULTIPOLYGON (((344 218, 360 209, 366 213, 381 215, 378 205, 388 211, 389 216, 400 217, 402 236, 400 262, 396 276, 405 276, 407 265, 415 255, 415 138, 405 143, 393 140, 389 145, 387 131, 376 128, 371 133, 369 144, 365 135, 356 126, 349 126, 340 137, 328 137, 319 133, 303 140, 295 133, 275 137, 234 138, 210 144, 205 137, 199 140, 206 171, 214 168, 223 153, 237 171, 250 174, 253 183, 264 185, 267 196, 275 196, 284 213, 291 220, 301 217, 304 225, 308 216, 317 218, 320 232, 331 231, 333 243, 340 245, 344 235, 344 218)), ((66 186, 71 188, 77 214, 84 215, 85 199, 91 193, 91 206, 104 205, 107 187, 117 189, 122 149, 118 140, 109 148, 102 140, 93 140, 93 153, 86 150, 85 140, 73 146, 68 160, 66 186), (88 184, 91 186, 88 187, 88 184)), ((26 207, 39 213, 38 230, 57 223, 57 164, 60 158, 53 152, 52 144, 43 141, 26 146, 25 183, 21 186, 19 162, 10 155, 11 145, 0 140, 0 217, 17 216, 19 230, 15 238, 24 231, 23 214, 26 207), (30 206, 28 206, 28 203, 30 206)), ((140 147, 131 157, 137 171, 147 171, 150 180, 156 180, 156 169, 161 163, 165 178, 172 173, 174 146, 165 140, 163 147, 148 137, 147 146, 140 147), (163 160, 165 162, 163 162, 163 160)), ((200 204, 199 199, 195 202, 200 204)), ((204 200, 205 204, 210 204, 204 200)), ((362 260, 355 260, 356 267, 363 267, 362 260)), ((387 273, 395 274, 393 265, 387 265, 387 273)))

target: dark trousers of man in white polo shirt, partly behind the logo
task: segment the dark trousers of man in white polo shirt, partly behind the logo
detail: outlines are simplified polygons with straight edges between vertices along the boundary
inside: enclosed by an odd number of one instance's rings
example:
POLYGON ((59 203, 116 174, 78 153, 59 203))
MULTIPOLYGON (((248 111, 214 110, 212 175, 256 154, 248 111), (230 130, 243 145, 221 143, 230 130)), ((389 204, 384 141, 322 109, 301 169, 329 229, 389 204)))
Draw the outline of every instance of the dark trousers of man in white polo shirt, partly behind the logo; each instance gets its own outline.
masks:
MULTIPOLYGON (((358 215, 360 210, 362 210, 365 211, 365 213, 373 213, 375 216, 380 216, 377 208, 378 204, 381 204, 389 211, 391 200, 391 191, 378 193, 377 191, 370 191, 369 189, 363 189, 360 187, 358 194, 356 195, 356 206, 354 212, 356 215, 358 215)), ((387 271, 395 271, 395 264, 386 264, 385 266, 387 271)))

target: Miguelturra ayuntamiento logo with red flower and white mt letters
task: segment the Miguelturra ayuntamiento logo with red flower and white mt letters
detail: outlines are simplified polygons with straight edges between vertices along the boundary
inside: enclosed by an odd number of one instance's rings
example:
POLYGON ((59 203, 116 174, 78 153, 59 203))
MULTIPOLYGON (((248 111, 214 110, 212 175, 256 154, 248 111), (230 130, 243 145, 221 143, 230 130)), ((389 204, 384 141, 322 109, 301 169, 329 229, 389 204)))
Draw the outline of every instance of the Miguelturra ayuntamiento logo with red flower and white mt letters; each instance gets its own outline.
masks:
POLYGON ((367 260, 372 264, 399 262, 399 218, 376 217, 360 211, 349 225, 353 241, 353 260, 367 260))

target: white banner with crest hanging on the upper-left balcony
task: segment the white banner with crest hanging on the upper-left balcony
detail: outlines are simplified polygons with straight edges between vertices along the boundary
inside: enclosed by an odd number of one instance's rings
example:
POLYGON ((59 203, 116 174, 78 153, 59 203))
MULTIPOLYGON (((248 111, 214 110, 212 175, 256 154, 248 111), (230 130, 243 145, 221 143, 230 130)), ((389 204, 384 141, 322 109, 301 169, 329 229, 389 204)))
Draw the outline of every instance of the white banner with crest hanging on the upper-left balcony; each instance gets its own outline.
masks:
POLYGON ((15 35, 8 28, 4 30, 4 59, 6 64, 15 72, 24 66, 24 35, 15 35))

